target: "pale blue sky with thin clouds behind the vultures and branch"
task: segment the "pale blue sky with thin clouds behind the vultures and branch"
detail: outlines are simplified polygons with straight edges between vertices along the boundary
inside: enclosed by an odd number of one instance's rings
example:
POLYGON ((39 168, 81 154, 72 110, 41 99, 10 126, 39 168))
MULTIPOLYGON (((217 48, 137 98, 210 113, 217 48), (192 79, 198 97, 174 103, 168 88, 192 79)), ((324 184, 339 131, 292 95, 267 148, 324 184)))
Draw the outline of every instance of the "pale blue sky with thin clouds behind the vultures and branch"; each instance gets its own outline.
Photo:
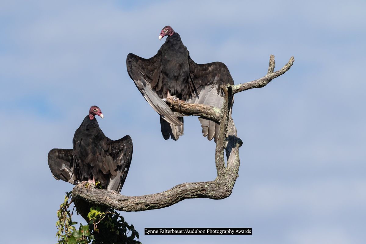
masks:
MULTIPOLYGON (((364 243, 366 240, 365 1, 0 1, 1 243, 56 243, 56 211, 72 185, 48 168, 72 148, 91 105, 111 139, 130 135, 123 195, 216 177, 213 141, 196 117, 165 141, 156 112, 126 71, 149 58, 165 25, 196 63, 221 61, 236 84, 243 140, 232 195, 123 213, 146 243, 364 243), (145 227, 251 227, 251 236, 145 236, 145 227), (20 229, 20 230, 19 230, 20 229)), ((75 217, 80 221, 81 218, 75 217)), ((84 223, 84 222, 83 222, 84 223)))

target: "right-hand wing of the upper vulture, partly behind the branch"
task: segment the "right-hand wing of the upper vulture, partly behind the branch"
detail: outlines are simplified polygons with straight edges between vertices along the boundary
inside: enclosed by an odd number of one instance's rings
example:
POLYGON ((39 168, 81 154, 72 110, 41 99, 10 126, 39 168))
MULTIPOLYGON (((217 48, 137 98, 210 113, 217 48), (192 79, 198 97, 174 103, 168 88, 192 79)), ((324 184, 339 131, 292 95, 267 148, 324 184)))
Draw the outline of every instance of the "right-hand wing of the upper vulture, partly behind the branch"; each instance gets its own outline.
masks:
MULTIPOLYGON (((224 94, 221 92, 220 86, 227 83, 234 85, 234 80, 226 65, 221 62, 196 64, 189 57, 189 72, 197 89, 198 96, 193 96, 187 102, 192 104, 205 104, 221 109, 224 94)), ((199 121, 201 122, 203 136, 207 136, 209 140, 214 138, 216 142, 219 136, 220 125, 212 120, 202 118, 199 118, 199 121)))

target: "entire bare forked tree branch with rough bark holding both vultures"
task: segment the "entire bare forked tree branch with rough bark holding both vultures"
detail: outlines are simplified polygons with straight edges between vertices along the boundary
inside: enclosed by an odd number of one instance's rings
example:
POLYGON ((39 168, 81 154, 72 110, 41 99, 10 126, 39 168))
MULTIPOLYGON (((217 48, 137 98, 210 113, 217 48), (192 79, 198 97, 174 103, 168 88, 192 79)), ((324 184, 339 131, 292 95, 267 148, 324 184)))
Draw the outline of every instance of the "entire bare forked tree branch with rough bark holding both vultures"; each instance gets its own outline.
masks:
POLYGON ((229 115, 229 104, 232 102, 233 95, 240 91, 267 85, 272 79, 289 70, 293 62, 294 57, 291 57, 290 61, 281 70, 273 72, 275 68, 275 57, 271 55, 268 74, 266 76, 240 85, 222 86, 224 103, 221 112, 219 109, 211 106, 187 104, 182 101, 178 102, 167 99, 167 104, 175 112, 202 116, 220 123, 220 134, 215 151, 216 179, 207 182, 183 183, 167 191, 144 196, 123 196, 116 191, 101 190, 93 187, 86 192, 86 189, 82 188, 81 185, 76 185, 72 191, 72 197, 76 207, 81 210, 80 208, 82 208, 83 204, 85 206, 86 201, 121 211, 145 211, 168 207, 187 198, 227 198, 231 195, 236 178, 239 176, 239 147, 242 145, 242 140, 236 135, 234 121, 229 115), (224 150, 227 156, 226 165, 224 150))

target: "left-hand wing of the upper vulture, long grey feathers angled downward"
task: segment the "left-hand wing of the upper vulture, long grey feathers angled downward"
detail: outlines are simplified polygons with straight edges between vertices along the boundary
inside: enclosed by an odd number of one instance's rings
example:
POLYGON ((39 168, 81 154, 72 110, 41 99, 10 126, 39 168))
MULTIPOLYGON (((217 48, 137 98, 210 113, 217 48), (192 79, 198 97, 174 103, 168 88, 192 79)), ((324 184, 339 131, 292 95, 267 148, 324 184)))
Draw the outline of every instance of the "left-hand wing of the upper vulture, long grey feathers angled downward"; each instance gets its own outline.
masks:
POLYGON ((127 72, 135 85, 152 106, 152 108, 167 122, 173 125, 181 125, 167 104, 159 97, 157 91, 161 90, 163 77, 161 75, 161 50, 150 58, 143 59, 132 53, 127 55, 127 72))

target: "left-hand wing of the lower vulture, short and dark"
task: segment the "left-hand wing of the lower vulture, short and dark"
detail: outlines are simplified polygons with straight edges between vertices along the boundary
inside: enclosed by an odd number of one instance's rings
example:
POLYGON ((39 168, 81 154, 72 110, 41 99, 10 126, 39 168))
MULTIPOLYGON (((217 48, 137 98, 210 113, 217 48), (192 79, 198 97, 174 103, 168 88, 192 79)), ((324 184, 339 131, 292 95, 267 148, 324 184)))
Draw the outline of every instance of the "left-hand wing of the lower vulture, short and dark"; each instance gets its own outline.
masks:
POLYGON ((54 148, 48 153, 48 166, 56 180, 63 180, 71 184, 78 184, 75 179, 74 159, 72 149, 54 148))

